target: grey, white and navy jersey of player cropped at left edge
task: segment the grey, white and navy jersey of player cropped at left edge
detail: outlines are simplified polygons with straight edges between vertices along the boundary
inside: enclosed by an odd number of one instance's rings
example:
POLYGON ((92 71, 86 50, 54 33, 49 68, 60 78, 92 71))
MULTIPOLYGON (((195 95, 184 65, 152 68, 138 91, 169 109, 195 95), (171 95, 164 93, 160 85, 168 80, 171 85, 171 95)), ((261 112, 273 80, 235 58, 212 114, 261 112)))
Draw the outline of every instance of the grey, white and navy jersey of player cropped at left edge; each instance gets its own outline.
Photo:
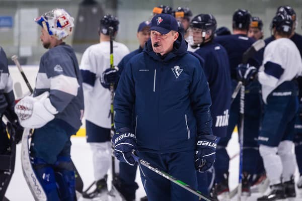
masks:
POLYGON ((0 47, 0 115, 2 115, 6 109, 14 113, 14 106, 13 80, 9 73, 7 55, 0 47))

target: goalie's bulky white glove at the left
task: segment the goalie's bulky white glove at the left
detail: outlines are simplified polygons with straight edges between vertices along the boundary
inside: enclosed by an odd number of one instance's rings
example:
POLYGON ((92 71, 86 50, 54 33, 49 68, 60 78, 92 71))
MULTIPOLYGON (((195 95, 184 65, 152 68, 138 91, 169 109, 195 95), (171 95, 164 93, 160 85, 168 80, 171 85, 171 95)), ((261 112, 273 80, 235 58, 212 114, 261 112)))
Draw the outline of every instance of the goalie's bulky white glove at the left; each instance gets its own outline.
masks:
POLYGON ((48 96, 49 92, 46 91, 36 97, 26 96, 16 104, 15 113, 21 126, 37 129, 54 119, 58 111, 51 105, 48 96))

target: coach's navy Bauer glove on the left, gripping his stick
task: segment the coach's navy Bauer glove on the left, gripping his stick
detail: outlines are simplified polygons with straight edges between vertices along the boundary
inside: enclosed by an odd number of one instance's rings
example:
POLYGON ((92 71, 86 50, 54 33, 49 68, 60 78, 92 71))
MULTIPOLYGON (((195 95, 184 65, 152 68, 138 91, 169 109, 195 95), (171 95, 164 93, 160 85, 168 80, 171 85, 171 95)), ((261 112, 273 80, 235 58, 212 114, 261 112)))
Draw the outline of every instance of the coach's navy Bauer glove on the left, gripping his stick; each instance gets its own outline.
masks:
POLYGON ((134 165, 135 160, 132 157, 132 150, 136 150, 136 137, 134 133, 128 128, 121 128, 112 137, 114 144, 115 157, 126 162, 129 165, 134 165))

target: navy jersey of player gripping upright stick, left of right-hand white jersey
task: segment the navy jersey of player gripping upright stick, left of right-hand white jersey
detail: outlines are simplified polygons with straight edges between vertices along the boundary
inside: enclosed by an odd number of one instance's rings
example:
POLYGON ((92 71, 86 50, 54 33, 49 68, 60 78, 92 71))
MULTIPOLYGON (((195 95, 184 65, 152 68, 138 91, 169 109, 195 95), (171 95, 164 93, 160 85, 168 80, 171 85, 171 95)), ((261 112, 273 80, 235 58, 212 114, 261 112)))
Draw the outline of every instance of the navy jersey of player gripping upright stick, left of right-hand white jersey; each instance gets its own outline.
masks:
MULTIPOLYGON (((256 40, 243 34, 234 34, 217 36, 214 41, 225 48, 229 55, 231 77, 232 79, 237 79, 236 68, 242 63, 242 55, 256 40)), ((260 55, 256 54, 253 58, 248 60, 248 63, 259 68, 261 65, 261 58, 259 56, 260 55)))

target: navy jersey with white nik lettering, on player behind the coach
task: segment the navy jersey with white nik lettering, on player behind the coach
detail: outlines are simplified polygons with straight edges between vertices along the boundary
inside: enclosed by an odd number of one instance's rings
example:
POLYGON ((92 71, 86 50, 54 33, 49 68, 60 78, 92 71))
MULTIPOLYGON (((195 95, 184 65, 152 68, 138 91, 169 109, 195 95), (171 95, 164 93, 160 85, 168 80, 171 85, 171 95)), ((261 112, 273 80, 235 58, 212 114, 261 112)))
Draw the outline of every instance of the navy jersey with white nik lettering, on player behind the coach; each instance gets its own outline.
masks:
POLYGON ((232 93, 228 53, 221 45, 214 42, 202 45, 194 53, 204 59, 202 67, 212 98, 210 111, 213 118, 213 134, 225 137, 229 125, 232 93))

